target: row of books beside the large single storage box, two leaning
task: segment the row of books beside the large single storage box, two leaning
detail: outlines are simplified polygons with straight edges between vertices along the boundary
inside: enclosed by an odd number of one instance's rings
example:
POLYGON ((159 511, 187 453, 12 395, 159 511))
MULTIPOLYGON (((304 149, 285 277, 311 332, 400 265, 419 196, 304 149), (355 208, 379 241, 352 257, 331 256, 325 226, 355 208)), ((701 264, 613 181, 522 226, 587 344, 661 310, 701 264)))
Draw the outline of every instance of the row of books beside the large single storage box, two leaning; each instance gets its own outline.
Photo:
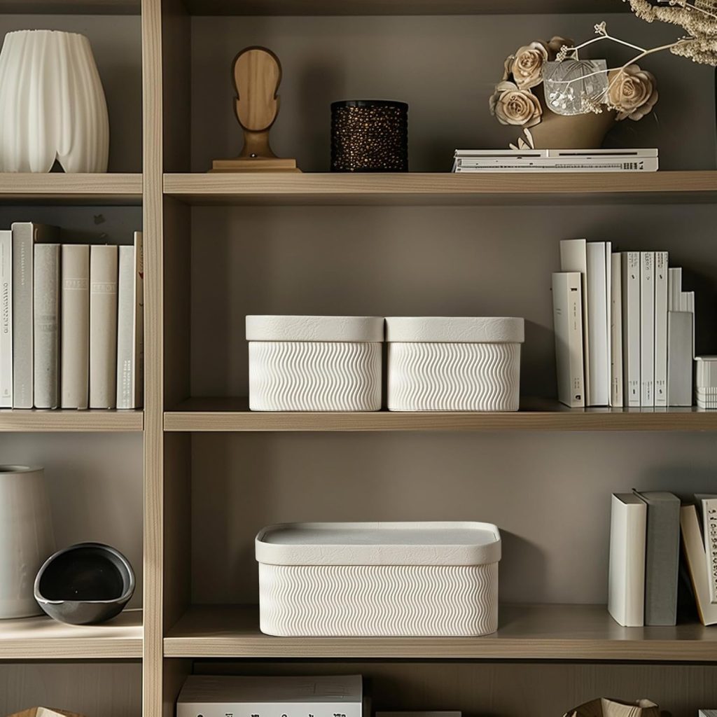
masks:
POLYGON ((619 625, 675 625, 680 533, 698 615, 717 624, 717 495, 614 493, 607 609, 619 625))

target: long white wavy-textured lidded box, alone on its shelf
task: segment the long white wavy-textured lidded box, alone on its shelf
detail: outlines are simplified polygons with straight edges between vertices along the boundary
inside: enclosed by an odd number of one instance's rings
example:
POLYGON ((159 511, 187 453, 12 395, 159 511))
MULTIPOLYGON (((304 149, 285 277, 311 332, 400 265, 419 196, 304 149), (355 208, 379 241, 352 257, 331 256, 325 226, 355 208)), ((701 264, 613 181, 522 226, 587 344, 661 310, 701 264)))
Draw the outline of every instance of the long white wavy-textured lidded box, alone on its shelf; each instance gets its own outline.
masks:
POLYGON ((256 538, 260 627, 285 637, 498 630, 490 523, 286 523, 256 538))

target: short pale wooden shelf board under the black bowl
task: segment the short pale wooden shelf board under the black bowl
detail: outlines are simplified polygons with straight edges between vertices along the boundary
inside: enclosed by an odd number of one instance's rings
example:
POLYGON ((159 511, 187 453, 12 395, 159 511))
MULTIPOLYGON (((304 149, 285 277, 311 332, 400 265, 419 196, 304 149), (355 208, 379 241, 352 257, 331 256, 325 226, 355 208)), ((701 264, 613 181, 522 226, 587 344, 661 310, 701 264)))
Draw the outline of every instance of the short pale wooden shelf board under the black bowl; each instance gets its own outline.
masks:
POLYGON ((63 625, 50 617, 0 620, 0 660, 142 657, 142 611, 125 610, 104 625, 63 625))

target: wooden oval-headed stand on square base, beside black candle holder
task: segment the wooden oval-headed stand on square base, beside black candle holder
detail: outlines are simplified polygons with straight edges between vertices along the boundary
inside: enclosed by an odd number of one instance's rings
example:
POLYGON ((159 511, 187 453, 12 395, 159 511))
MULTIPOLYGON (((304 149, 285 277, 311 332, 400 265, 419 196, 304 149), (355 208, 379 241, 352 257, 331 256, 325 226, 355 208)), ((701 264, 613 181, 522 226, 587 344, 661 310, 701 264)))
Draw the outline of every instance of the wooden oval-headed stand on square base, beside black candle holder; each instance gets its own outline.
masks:
POLYGON ((279 58, 265 47, 245 47, 232 65, 237 98, 234 111, 244 131, 244 148, 235 159, 215 159, 212 172, 300 172, 295 159, 282 159, 269 145, 279 114, 279 58))

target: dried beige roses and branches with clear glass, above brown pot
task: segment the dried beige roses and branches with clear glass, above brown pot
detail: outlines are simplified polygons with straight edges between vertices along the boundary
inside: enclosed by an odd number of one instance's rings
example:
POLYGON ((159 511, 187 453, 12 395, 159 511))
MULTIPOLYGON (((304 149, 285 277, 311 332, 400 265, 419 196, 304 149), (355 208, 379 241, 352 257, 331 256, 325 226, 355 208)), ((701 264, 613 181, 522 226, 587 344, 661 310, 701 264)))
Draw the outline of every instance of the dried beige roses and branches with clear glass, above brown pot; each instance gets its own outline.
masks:
POLYGON ((549 42, 521 47, 505 60, 503 80, 495 85, 489 100, 490 113, 498 122, 523 128, 525 139, 518 140, 517 148, 534 146, 530 128, 543 122, 551 110, 565 115, 607 111, 616 121, 645 117, 658 98, 655 76, 637 65, 647 55, 669 50, 693 62, 717 65, 717 0, 623 1, 630 3, 640 19, 675 24, 688 34, 670 44, 645 48, 613 37, 601 22, 595 25, 597 37, 579 45, 554 37, 549 42), (579 60, 581 49, 604 40, 634 49, 637 54, 614 68, 608 68, 604 61, 591 65, 579 60), (555 72, 560 63, 571 67, 555 72), (563 111, 565 108, 569 111, 563 111))

